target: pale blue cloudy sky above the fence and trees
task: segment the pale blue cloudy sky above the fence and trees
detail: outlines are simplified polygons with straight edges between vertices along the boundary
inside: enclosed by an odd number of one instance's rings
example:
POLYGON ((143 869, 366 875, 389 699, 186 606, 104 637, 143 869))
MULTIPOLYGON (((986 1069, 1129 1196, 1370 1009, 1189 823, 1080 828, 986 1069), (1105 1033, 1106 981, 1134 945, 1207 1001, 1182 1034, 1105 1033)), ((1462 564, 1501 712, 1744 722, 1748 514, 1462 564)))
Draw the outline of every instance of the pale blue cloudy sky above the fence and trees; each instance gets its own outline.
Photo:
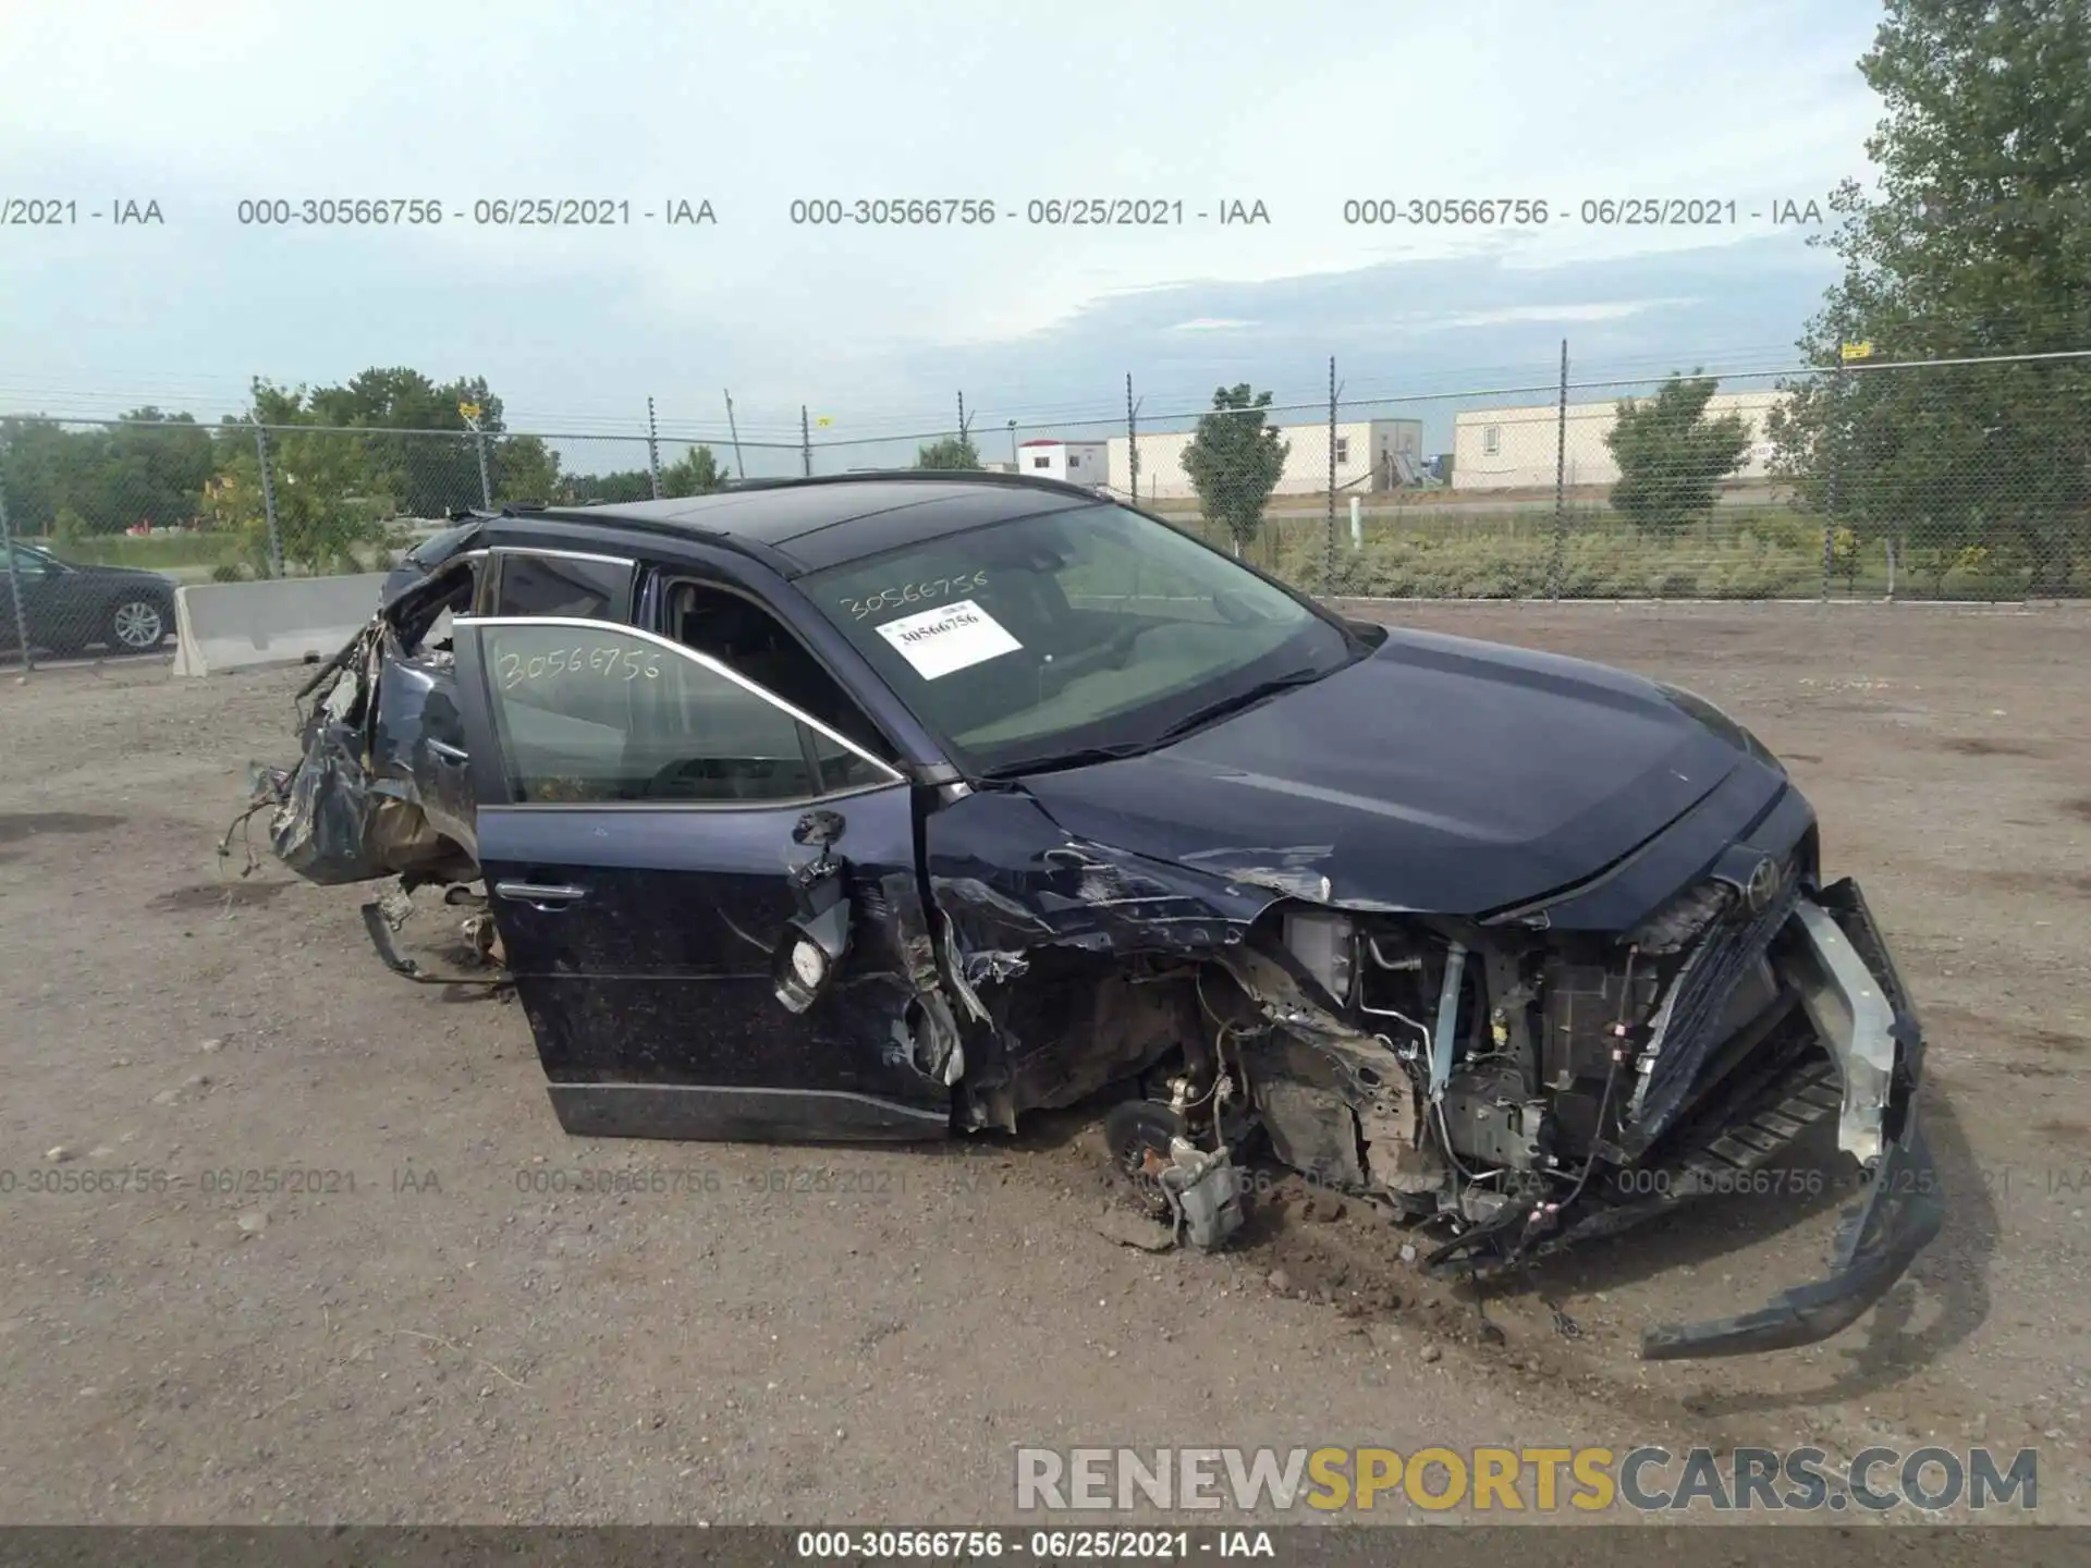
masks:
POLYGON ((795 445, 801 408, 822 443, 935 435, 964 395, 999 456, 1012 418, 1027 439, 1123 420, 1127 374, 1167 424, 1238 381, 1326 399, 1334 358, 1347 403, 1422 399, 1386 412, 1441 426, 1453 393, 1552 385, 1562 339, 1579 399, 1771 372, 1836 276, 1807 245, 1825 226, 1773 215, 1869 182, 1880 115, 1855 65, 1878 0, 0 13, 0 217, 77 213, 0 222, 0 412, 69 416, 215 418, 253 376, 408 364, 483 374, 510 429, 575 437, 644 431, 652 397, 663 435, 719 439, 728 389, 749 443, 795 445), (1470 197, 1549 217, 1345 211, 1470 197), (326 199, 443 222, 240 220, 326 199), (537 199, 629 220, 477 222, 537 199), (995 222, 792 220, 874 199, 995 222), (1184 222, 1029 222, 1069 199, 1184 222), (1631 199, 1736 222, 1583 222, 1631 199), (123 203, 161 222, 113 224, 123 203), (669 224, 673 203, 713 222, 669 224), (1221 224, 1232 203, 1267 220, 1221 224))

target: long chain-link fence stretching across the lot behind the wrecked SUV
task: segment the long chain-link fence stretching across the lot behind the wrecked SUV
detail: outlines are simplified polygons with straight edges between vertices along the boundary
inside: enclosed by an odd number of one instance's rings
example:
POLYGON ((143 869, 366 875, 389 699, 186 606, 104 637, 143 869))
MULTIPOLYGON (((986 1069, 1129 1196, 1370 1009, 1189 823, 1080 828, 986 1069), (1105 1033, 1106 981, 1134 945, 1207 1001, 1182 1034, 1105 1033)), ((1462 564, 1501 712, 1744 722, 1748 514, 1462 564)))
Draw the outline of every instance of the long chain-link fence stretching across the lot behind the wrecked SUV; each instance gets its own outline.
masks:
POLYGON ((1002 468, 1133 502, 1324 594, 1928 598, 2091 592, 2091 351, 947 429, 799 410, 723 437, 0 418, 0 646, 148 652, 174 587, 381 571, 452 512, 736 479, 1002 468), (866 431, 866 426, 874 426, 866 431))

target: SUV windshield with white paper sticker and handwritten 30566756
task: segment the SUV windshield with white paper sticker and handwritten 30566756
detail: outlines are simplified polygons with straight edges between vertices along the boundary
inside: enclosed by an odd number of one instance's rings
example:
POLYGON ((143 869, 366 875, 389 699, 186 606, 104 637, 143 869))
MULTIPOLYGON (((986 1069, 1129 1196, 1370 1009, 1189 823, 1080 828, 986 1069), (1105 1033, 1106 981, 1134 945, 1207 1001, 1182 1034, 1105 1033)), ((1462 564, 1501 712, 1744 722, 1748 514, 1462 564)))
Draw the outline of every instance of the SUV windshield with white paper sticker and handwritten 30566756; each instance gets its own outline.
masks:
POLYGON ((1284 590, 1119 506, 951 533, 799 587, 972 771, 1152 746, 1359 652, 1284 590))

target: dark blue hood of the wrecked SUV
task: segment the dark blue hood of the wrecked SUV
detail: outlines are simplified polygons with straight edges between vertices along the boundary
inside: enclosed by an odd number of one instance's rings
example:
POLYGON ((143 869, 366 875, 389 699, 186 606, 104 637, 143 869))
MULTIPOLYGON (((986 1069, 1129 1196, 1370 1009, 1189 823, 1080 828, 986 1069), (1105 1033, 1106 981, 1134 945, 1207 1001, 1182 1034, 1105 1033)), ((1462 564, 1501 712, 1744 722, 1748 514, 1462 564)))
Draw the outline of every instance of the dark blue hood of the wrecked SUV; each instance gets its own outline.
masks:
POLYGON ((1478 916, 1604 870, 1740 767, 1767 801, 1782 788, 1637 675, 1397 629, 1173 746, 1022 786, 1077 838, 1319 903, 1478 916))

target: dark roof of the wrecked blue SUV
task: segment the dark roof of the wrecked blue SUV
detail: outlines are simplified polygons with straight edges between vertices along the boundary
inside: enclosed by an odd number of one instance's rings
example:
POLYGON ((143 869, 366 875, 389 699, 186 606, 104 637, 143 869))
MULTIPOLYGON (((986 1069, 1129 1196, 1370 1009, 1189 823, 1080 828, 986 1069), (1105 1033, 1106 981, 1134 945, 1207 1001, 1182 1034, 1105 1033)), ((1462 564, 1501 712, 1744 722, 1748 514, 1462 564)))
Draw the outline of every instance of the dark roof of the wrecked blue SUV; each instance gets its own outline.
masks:
POLYGON ((544 546, 550 531, 571 525, 596 548, 617 533, 684 537, 740 550, 797 577, 985 523, 1108 504, 1083 485, 972 470, 757 479, 711 495, 598 506, 519 504, 500 514, 468 514, 416 550, 414 558, 427 569, 475 544, 544 546))

